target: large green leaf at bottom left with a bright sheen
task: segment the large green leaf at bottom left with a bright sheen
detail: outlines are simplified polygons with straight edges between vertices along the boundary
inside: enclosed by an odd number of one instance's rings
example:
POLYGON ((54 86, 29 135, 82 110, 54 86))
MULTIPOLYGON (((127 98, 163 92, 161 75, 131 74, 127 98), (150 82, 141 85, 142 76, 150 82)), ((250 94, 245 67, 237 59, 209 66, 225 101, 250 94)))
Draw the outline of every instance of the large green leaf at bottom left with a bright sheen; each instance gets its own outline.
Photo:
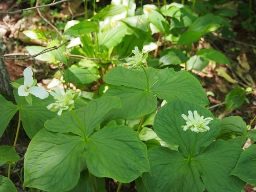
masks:
POLYGON ((24 162, 24 187, 68 191, 80 176, 81 137, 43 129, 31 140, 24 162))

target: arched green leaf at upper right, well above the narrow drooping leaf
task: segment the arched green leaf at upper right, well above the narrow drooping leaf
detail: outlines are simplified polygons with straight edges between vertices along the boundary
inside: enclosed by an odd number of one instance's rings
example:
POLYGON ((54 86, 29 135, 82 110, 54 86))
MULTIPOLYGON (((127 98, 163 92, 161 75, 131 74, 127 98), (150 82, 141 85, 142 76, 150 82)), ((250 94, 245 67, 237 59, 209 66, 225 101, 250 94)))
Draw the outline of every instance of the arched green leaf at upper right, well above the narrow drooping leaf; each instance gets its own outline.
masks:
POLYGON ((204 29, 212 24, 220 25, 222 19, 220 16, 213 15, 211 13, 201 16, 195 20, 195 22, 189 27, 191 31, 197 31, 199 33, 204 33, 204 29))

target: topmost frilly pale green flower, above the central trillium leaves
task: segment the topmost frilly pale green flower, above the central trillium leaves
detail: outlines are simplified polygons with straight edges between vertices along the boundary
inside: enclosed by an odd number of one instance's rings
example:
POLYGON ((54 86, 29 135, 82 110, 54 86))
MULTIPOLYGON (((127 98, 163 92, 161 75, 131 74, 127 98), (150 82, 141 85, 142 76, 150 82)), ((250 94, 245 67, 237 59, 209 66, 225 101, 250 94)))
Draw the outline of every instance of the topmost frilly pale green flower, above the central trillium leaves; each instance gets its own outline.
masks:
POLYGON ((127 57, 125 60, 127 63, 125 65, 127 66, 132 66, 133 68, 137 68, 139 66, 142 66, 146 63, 148 51, 142 52, 139 51, 139 48, 136 46, 134 50, 132 51, 134 53, 134 56, 132 57, 127 57))

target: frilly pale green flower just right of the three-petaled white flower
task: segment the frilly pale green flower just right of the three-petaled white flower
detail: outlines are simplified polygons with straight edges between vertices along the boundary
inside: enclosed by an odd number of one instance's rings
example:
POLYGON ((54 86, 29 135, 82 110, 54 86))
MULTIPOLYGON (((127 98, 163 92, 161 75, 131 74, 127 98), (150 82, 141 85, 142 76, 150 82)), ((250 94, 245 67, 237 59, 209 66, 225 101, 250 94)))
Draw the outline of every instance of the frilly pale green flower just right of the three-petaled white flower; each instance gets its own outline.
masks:
POLYGON ((51 91, 50 94, 54 97, 55 103, 49 104, 47 109, 53 112, 57 111, 59 116, 63 111, 71 111, 75 107, 74 103, 77 99, 77 93, 73 90, 65 92, 60 87, 57 87, 55 93, 51 91))

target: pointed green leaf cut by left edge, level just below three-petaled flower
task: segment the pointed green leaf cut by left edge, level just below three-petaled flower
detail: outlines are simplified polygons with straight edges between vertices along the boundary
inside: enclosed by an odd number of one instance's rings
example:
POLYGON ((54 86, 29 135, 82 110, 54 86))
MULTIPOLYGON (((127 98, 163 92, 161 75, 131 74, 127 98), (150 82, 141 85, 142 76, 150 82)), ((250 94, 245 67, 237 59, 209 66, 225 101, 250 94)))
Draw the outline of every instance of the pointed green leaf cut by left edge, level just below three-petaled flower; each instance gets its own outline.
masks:
POLYGON ((13 104, 11 101, 6 100, 0 94, 0 117, 2 117, 0 118, 0 137, 2 137, 4 134, 7 125, 17 111, 17 105, 13 104))

